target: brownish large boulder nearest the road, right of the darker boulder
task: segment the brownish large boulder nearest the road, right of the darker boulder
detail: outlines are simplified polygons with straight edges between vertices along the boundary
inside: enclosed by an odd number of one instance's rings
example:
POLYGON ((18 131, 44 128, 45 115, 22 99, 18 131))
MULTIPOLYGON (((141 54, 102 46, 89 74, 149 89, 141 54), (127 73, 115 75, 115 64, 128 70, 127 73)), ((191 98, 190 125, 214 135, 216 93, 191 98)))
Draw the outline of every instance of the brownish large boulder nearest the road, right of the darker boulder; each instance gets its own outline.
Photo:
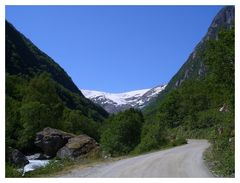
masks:
POLYGON ((99 151, 98 143, 87 135, 78 135, 68 140, 68 143, 59 149, 57 157, 60 159, 69 158, 81 158, 87 156, 93 156, 99 151))

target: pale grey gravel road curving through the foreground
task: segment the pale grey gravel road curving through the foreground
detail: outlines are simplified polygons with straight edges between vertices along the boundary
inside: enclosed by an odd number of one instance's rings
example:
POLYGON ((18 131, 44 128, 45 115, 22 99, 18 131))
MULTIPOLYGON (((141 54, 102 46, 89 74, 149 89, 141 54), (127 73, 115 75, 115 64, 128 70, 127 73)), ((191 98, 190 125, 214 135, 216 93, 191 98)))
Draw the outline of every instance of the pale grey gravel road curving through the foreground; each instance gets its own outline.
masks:
POLYGON ((60 177, 213 177, 202 158, 209 145, 207 140, 188 140, 186 145, 74 169, 60 177))

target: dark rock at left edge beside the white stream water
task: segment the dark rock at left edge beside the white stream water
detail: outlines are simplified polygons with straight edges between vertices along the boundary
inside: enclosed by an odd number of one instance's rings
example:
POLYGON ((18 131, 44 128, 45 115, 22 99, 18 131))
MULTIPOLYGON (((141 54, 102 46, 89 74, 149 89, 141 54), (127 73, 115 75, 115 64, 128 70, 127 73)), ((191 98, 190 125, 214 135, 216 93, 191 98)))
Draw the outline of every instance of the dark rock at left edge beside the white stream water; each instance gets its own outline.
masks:
POLYGON ((16 166, 24 166, 29 163, 23 153, 12 147, 6 149, 6 160, 16 166))

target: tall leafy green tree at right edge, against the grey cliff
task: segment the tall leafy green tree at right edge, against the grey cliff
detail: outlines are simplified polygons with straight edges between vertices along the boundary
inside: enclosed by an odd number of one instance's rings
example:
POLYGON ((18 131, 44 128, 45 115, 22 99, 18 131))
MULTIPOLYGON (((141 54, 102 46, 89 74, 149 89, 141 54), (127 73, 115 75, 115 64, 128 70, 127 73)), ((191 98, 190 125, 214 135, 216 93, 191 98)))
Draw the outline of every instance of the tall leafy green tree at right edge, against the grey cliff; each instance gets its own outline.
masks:
POLYGON ((234 90, 235 74, 234 28, 221 30, 217 40, 210 40, 204 54, 204 64, 215 84, 234 90))

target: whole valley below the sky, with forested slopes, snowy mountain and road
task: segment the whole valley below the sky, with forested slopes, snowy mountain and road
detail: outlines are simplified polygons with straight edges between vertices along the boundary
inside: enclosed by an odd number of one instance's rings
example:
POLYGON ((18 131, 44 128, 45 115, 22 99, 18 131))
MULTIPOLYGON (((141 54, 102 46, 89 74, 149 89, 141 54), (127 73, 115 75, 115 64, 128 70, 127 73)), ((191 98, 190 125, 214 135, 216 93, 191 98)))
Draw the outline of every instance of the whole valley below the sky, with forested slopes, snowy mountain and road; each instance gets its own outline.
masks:
POLYGON ((59 176, 235 177, 234 26, 235 7, 223 7, 168 83, 110 93, 78 88, 6 20, 6 177, 129 155, 59 176))

